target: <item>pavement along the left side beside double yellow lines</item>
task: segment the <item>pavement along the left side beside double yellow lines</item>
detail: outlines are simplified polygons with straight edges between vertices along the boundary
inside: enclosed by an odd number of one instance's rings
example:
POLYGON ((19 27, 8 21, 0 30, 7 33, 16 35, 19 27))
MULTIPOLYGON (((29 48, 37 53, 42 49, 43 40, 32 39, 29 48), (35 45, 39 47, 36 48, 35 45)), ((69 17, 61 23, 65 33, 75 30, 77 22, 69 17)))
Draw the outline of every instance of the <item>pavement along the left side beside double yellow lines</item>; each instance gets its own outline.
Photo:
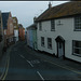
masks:
POLYGON ((10 59, 10 53, 11 53, 11 49, 14 45, 11 45, 10 48, 6 49, 6 52, 4 52, 2 54, 2 56, 0 57, 0 80, 3 80, 3 78, 6 75, 8 71, 8 64, 9 64, 9 59, 10 59))

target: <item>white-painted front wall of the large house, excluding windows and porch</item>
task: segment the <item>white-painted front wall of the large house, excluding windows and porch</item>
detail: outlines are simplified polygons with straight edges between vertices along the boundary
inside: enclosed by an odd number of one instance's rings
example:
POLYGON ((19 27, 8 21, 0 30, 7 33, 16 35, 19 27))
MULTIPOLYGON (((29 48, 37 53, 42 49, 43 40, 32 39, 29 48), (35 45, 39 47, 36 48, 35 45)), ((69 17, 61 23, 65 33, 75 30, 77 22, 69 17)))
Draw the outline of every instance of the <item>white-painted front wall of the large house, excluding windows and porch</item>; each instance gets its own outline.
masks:
POLYGON ((56 37, 62 36, 65 39, 65 56, 67 58, 75 59, 77 62, 81 62, 81 57, 72 55, 72 40, 80 40, 81 41, 81 31, 73 31, 75 27, 75 18, 62 18, 62 19, 55 19, 55 31, 51 31, 51 22, 42 22, 42 31, 39 31, 39 24, 38 24, 38 50, 45 51, 51 54, 55 53, 57 54, 57 48, 56 48, 56 37), (58 21, 60 21, 62 25, 57 25, 58 21), (45 46, 41 46, 41 39, 40 37, 45 38, 45 46), (52 38, 52 45, 53 49, 48 49, 48 38, 52 38))

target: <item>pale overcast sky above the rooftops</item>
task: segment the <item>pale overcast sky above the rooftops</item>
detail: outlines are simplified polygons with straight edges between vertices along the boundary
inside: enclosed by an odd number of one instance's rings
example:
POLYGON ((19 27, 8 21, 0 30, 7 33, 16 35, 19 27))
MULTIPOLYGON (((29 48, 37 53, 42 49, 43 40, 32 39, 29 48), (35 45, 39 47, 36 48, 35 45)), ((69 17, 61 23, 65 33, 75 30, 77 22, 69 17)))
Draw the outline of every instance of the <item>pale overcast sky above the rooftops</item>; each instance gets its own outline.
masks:
MULTIPOLYGON (((52 6, 65 3, 67 1, 51 1, 52 6)), ((49 8, 49 1, 0 1, 1 12, 11 12, 16 16, 18 23, 26 28, 33 24, 33 17, 39 16, 49 8)))

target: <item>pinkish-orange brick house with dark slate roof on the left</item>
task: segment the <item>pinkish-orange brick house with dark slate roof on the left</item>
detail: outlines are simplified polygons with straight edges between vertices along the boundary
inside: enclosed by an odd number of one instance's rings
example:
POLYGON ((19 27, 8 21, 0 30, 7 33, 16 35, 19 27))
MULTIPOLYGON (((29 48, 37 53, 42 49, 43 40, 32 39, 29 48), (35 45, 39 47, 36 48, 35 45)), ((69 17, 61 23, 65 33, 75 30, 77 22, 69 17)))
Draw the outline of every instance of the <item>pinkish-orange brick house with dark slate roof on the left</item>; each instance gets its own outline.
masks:
POLYGON ((14 37, 13 18, 11 12, 2 13, 2 25, 4 33, 4 43, 5 46, 9 46, 10 44, 12 44, 14 37))

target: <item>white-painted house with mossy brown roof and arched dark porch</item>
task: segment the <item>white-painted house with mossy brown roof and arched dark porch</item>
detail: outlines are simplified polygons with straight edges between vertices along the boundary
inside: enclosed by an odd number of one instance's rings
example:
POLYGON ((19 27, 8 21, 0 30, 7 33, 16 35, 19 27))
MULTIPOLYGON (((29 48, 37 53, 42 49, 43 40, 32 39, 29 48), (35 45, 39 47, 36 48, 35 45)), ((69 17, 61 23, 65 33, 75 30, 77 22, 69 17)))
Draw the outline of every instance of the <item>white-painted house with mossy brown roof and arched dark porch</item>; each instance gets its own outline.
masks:
POLYGON ((37 23, 39 51, 81 63, 81 2, 49 4, 37 23))

